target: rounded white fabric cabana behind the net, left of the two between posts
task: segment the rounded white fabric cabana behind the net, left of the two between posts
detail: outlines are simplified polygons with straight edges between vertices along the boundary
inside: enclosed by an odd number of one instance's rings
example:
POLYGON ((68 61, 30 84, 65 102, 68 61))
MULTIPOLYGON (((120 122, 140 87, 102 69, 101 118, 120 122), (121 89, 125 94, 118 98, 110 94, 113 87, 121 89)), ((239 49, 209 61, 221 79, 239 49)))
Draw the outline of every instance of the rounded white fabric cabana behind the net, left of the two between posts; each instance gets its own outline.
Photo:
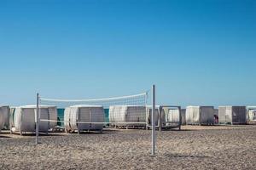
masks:
POLYGON ((64 111, 64 126, 67 133, 75 131, 80 133, 88 130, 102 132, 103 122, 104 109, 102 105, 73 105, 64 111))

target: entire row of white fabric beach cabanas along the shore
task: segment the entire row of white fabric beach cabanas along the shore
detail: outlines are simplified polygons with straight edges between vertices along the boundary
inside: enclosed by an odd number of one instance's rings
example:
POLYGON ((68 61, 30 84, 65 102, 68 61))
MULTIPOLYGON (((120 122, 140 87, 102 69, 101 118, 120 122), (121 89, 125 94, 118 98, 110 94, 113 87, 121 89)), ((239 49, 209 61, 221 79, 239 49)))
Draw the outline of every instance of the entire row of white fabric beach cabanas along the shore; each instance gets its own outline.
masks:
MULTIPOLYGON (((0 105, 1 129, 11 133, 35 133, 36 105, 9 107, 0 105)), ((108 109, 101 105, 73 105, 67 108, 40 105, 39 132, 65 130, 67 133, 97 130, 103 127, 152 127, 152 106, 113 105, 108 109)), ((247 124, 256 122, 253 106, 180 106, 157 105, 154 124, 158 129, 176 128, 181 125, 247 124)))

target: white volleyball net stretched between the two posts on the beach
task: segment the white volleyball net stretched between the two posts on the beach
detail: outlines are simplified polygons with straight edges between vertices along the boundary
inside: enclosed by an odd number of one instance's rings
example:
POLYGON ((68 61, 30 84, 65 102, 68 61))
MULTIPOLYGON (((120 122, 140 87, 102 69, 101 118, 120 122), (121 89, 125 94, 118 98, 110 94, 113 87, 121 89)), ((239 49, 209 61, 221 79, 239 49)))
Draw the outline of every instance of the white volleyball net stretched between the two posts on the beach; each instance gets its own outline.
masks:
POLYGON ((108 99, 47 99, 39 97, 39 125, 66 132, 102 131, 103 127, 141 128, 147 125, 149 91, 108 99), (51 108, 47 115, 45 108, 51 108), (53 109, 55 108, 55 109, 53 109))

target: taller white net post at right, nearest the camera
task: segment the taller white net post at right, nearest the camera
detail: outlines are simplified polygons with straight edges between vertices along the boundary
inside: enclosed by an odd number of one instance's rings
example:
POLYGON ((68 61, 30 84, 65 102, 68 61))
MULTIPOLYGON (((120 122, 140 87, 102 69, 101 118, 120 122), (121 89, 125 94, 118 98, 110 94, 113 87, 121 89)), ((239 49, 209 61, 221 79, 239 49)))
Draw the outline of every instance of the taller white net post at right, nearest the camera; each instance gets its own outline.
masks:
POLYGON ((151 156, 155 156, 155 123, 154 123, 154 112, 155 112, 155 85, 152 86, 152 150, 151 156))

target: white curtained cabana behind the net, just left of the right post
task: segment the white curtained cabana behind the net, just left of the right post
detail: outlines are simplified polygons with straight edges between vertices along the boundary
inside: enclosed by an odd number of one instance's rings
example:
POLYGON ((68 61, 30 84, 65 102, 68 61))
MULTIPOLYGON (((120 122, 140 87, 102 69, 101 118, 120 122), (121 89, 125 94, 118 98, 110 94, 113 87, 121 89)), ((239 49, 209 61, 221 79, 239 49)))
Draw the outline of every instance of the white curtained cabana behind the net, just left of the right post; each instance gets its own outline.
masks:
POLYGON ((111 105, 109 107, 109 123, 112 126, 145 127, 146 106, 111 105))

